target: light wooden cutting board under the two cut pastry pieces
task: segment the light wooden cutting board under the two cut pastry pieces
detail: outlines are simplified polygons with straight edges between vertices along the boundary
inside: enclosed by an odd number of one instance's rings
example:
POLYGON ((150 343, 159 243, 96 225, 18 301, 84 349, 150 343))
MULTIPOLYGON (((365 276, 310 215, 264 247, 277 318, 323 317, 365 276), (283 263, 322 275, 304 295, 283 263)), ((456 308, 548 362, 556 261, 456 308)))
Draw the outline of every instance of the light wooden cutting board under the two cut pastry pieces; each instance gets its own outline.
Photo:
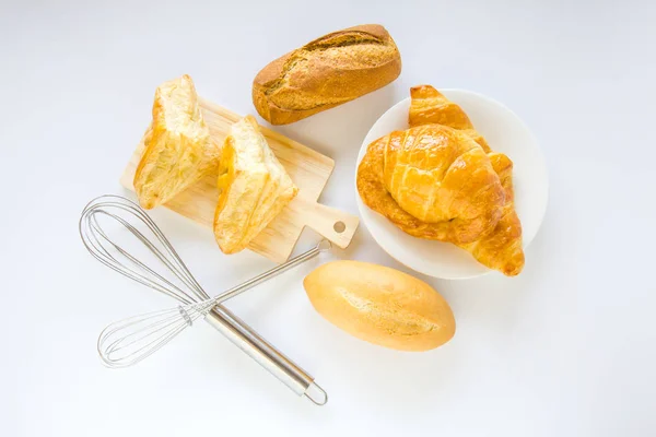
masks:
MULTIPOLYGON (((200 98, 199 102, 212 140, 223 144, 230 126, 242 117, 206 99, 200 98)), ((284 262, 292 253, 305 226, 309 226, 338 247, 349 246, 358 228, 359 218, 317 202, 335 168, 335 161, 270 129, 260 129, 269 146, 298 187, 298 194, 250 241, 248 248, 272 261, 284 262)), ((120 178, 121 185, 132 191, 132 180, 142 152, 143 140, 120 178)), ((164 206, 211 228, 218 199, 216 175, 210 175, 164 206)))

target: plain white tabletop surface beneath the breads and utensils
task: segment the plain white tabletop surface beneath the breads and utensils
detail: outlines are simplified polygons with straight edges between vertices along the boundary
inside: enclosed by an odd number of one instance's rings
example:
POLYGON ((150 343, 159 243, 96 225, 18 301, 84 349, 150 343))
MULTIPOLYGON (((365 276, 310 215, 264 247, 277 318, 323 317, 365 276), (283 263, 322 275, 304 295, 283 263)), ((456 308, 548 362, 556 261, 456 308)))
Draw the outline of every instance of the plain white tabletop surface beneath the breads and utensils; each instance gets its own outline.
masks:
MULTIPOLYGON (((0 433, 655 435, 654 4, 2 1, 0 433), (401 76, 280 129, 336 160, 323 202, 356 212, 362 139, 411 85, 489 95, 531 127, 549 166, 550 203, 522 275, 430 280, 458 328, 424 354, 320 319, 302 277, 324 260, 231 302, 329 391, 325 408, 203 324, 133 368, 103 367, 95 341, 106 323, 172 304, 102 267, 77 234, 86 201, 122 192, 155 86, 189 73, 204 97, 254 114, 261 67, 366 22, 396 39, 401 76)), ((213 293, 272 265, 223 256, 210 231, 167 211, 153 216, 213 293)), ((307 231, 297 251, 315 240, 307 231)), ((333 257, 399 268, 365 228, 333 257)))

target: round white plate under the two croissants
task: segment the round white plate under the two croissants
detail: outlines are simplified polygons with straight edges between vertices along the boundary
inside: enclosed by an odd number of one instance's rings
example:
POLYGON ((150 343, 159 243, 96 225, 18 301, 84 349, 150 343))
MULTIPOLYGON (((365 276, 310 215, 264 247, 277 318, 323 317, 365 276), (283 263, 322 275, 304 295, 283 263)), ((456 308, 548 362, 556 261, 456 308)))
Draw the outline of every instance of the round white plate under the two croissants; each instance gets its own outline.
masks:
MULTIPOLYGON (((515 208, 522 221, 526 248, 542 223, 548 199, 547 167, 536 139, 519 117, 499 102, 465 90, 440 91, 465 109, 492 150, 505 153, 513 160, 515 208)), ((364 139, 358 164, 370 143, 394 130, 408 129, 409 107, 410 97, 383 114, 364 139)), ((374 239, 387 253, 410 269, 450 280, 480 276, 491 271, 452 244, 411 237, 364 205, 359 194, 356 197, 362 222, 374 239)), ((529 257, 526 262, 530 263, 529 257)))

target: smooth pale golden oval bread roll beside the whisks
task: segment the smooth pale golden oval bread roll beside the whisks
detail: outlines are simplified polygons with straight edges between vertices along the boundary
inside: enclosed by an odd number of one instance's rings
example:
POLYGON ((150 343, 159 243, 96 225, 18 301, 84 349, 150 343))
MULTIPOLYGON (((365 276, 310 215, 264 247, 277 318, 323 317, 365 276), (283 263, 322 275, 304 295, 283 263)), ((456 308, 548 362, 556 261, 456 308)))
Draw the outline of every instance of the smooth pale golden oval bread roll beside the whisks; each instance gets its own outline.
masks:
POLYGON ((429 284, 390 268, 333 261, 303 281, 315 309, 361 340, 400 351, 427 351, 449 341, 454 314, 429 284))

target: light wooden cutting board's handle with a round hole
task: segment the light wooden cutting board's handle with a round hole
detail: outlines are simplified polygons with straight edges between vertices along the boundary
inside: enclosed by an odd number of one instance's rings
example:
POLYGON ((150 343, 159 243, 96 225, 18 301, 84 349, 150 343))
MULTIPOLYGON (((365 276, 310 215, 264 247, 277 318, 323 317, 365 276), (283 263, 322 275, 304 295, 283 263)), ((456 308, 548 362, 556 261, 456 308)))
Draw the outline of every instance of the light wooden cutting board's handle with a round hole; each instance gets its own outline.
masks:
POLYGON ((349 246, 360 223, 358 216, 317 202, 298 200, 302 203, 303 218, 306 226, 342 249, 349 246))

